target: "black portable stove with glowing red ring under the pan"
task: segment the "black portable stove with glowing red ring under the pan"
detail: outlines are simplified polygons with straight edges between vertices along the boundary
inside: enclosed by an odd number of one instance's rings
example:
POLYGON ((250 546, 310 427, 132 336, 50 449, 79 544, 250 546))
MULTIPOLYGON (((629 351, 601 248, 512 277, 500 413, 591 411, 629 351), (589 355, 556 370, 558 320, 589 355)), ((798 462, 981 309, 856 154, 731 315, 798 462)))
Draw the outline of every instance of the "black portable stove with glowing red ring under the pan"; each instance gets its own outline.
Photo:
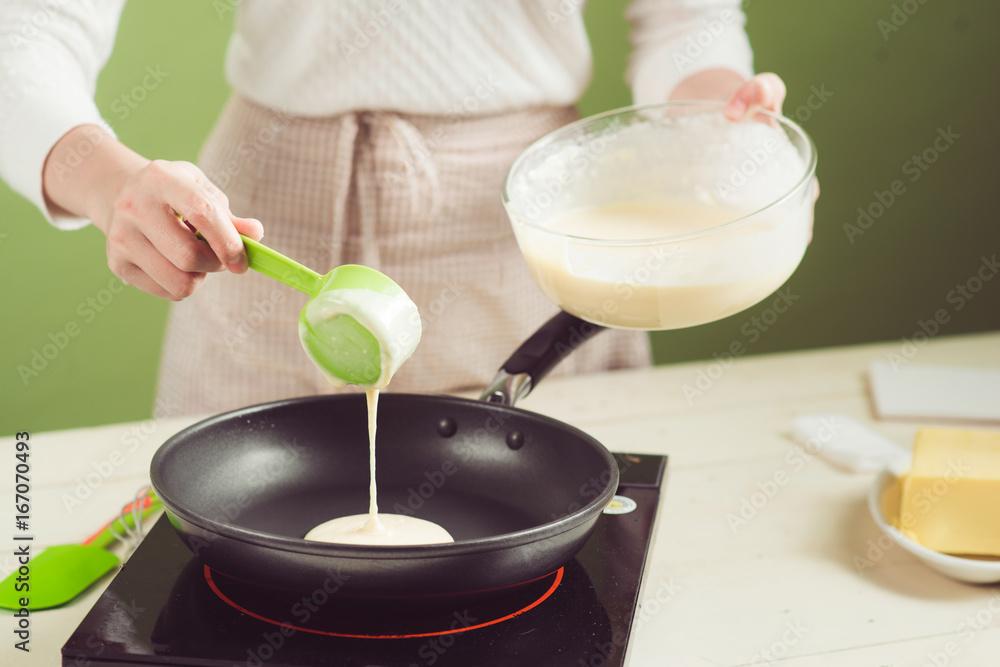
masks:
POLYGON ((615 456, 624 513, 606 511, 560 570, 461 609, 345 607, 335 583, 329 594, 263 589, 207 568, 161 517, 63 646, 63 665, 624 665, 666 458, 615 456))

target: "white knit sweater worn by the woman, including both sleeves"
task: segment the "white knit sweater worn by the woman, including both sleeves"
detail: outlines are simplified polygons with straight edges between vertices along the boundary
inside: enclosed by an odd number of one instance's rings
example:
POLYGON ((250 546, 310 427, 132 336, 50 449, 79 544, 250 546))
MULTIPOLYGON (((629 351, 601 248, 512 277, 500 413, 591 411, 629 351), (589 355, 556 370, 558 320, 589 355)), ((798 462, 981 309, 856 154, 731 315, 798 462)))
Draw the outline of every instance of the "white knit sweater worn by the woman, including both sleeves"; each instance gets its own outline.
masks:
MULTIPOLYGON (((214 7, 236 14, 227 79, 259 104, 306 116, 464 115, 576 102, 591 71, 584 2, 220 0, 214 7)), ((46 210, 42 167, 70 129, 105 125, 94 88, 123 4, 0 5, 0 177, 65 229, 87 221, 46 210)), ((752 72, 738 1, 632 0, 626 15, 636 103, 665 100, 698 70, 752 72)))

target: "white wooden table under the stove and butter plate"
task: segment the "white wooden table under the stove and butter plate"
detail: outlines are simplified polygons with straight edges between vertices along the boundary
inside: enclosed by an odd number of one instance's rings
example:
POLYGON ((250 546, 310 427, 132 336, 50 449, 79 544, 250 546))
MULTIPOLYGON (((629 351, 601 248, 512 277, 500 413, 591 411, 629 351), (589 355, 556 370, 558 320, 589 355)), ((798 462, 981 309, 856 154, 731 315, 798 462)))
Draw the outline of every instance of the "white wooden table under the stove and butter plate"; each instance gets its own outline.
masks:
MULTIPOLYGON (((796 415, 838 412, 909 445, 918 424, 874 420, 865 384, 868 364, 901 345, 553 378, 523 401, 614 451, 670 456, 633 667, 1000 665, 1000 587, 961 584, 902 549, 879 548, 865 506, 872 475, 837 471, 789 437, 796 415), (683 387, 699 372, 717 379, 689 400, 683 387), (784 483, 769 483, 776 473, 784 483), (759 507, 736 523, 744 499, 759 507), (871 566, 860 568, 856 556, 871 566)), ((934 339, 912 360, 1000 368, 1000 333, 934 339)), ((194 421, 32 433, 36 553, 82 540, 115 514, 147 483, 157 446, 194 421)), ((10 526, 14 438, 3 442, 0 505, 10 526)), ((14 532, 0 531, 9 545, 0 546, 3 574, 15 566, 14 532)), ((66 608, 32 614, 28 654, 13 648, 14 619, 0 615, 0 665, 59 664, 60 647, 106 583, 66 608)))

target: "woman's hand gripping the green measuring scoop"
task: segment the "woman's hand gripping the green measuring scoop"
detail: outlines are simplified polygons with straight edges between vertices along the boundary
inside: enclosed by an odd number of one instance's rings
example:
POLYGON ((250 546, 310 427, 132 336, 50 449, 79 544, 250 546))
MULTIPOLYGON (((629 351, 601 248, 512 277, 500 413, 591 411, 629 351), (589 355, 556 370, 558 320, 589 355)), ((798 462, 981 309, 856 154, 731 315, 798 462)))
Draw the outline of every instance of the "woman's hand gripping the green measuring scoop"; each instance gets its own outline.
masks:
POLYGON ((195 165, 146 160, 108 135, 95 144, 94 129, 71 130, 53 147, 45 193, 54 209, 87 216, 104 232, 108 267, 122 282, 179 301, 206 273, 247 270, 239 234, 259 240, 260 222, 233 215, 226 195, 195 165), (87 157, 72 170, 60 168, 71 151, 85 152, 76 150, 81 141, 93 144, 87 157))

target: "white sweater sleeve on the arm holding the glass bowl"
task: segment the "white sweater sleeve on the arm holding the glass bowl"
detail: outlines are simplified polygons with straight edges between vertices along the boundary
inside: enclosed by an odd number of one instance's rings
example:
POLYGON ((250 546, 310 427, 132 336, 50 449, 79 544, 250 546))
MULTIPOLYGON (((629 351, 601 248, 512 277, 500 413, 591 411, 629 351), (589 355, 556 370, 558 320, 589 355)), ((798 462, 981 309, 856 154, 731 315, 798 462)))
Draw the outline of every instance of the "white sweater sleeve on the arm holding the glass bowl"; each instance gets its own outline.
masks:
POLYGON ((753 75, 738 1, 632 0, 626 17, 633 47, 626 80, 635 104, 665 102, 678 83, 701 70, 753 75))

